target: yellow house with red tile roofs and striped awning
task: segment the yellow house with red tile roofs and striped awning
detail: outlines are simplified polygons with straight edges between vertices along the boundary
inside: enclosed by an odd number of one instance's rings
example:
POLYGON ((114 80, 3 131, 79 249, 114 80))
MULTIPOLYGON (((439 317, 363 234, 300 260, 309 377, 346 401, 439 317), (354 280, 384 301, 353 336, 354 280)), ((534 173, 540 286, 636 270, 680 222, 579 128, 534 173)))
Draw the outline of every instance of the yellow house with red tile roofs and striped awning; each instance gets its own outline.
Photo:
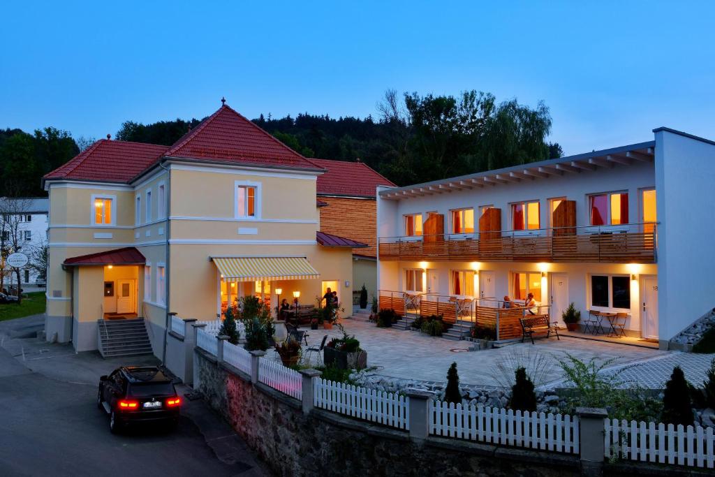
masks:
POLYGON ((115 352, 161 356, 169 313, 216 320, 250 294, 275 309, 279 291, 315 304, 328 286, 349 305, 366 245, 320 232, 323 172, 225 104, 170 147, 92 144, 43 178, 48 340, 95 350, 137 319, 115 352))

